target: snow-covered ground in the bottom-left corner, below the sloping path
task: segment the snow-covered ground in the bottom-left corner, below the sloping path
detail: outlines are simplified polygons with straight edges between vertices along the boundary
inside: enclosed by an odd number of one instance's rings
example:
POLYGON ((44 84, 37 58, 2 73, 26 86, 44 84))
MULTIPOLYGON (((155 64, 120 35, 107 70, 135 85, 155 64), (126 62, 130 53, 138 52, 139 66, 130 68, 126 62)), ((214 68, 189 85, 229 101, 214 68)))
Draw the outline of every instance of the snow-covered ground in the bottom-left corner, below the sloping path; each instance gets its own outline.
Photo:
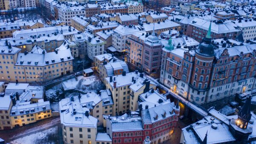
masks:
POLYGON ((22 138, 15 139, 11 141, 12 144, 55 144, 54 136, 58 137, 58 126, 51 127, 47 130, 43 130, 38 133, 32 133, 28 136, 23 136, 22 138))

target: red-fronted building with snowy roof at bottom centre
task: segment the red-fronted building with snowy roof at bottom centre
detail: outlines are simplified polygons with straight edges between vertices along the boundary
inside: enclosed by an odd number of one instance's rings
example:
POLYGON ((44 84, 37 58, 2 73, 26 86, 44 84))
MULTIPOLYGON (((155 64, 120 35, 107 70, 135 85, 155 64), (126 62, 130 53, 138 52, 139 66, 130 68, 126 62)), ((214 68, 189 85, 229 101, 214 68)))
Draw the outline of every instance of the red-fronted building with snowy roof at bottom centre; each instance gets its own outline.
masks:
POLYGON ((129 115, 109 116, 106 119, 107 133, 112 143, 142 144, 149 138, 153 144, 160 144, 169 139, 169 132, 176 126, 180 107, 178 104, 166 103, 155 107, 131 112, 129 115))

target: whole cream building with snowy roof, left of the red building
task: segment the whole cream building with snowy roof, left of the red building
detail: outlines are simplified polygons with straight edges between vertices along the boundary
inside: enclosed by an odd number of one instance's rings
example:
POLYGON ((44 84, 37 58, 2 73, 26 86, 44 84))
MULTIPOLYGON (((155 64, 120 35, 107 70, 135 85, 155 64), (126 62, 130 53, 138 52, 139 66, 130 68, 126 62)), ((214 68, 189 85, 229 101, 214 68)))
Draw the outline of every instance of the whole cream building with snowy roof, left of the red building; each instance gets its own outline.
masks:
MULTIPOLYGON (((96 144, 98 119, 90 116, 92 107, 97 105, 93 100, 88 102, 87 95, 82 95, 81 98, 71 96, 59 102, 65 144, 96 144)), ((102 107, 98 108, 99 111, 102 110, 102 107)))

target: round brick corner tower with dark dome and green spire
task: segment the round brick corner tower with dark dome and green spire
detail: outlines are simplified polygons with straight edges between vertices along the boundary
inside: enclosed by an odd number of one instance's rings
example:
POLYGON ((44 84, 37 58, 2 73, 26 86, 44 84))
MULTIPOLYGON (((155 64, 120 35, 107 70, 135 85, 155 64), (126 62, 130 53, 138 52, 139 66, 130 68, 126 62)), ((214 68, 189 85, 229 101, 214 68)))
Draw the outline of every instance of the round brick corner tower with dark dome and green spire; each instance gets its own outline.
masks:
MULTIPOLYGON (((209 90, 210 76, 212 71, 214 54, 214 46, 211 37, 212 22, 209 24, 207 35, 204 37, 200 45, 195 50, 195 64, 190 81, 190 93, 194 92, 194 97, 199 98, 197 104, 207 103, 207 91, 209 90)), ((190 99, 193 98, 190 96, 190 99)))

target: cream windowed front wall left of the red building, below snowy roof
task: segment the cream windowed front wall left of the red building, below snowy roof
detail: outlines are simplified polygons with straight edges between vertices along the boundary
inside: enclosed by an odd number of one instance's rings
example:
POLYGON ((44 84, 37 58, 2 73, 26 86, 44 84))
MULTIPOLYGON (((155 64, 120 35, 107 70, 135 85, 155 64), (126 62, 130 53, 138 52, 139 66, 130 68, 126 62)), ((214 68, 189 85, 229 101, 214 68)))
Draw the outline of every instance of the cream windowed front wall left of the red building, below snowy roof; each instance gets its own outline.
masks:
POLYGON ((74 144, 81 144, 81 142, 83 144, 96 144, 96 133, 97 128, 95 127, 65 127, 65 125, 62 124, 64 144, 71 144, 71 141, 73 141, 74 144), (81 128, 81 131, 79 131, 79 128, 81 128), (80 135, 82 138, 80 138, 80 135))

